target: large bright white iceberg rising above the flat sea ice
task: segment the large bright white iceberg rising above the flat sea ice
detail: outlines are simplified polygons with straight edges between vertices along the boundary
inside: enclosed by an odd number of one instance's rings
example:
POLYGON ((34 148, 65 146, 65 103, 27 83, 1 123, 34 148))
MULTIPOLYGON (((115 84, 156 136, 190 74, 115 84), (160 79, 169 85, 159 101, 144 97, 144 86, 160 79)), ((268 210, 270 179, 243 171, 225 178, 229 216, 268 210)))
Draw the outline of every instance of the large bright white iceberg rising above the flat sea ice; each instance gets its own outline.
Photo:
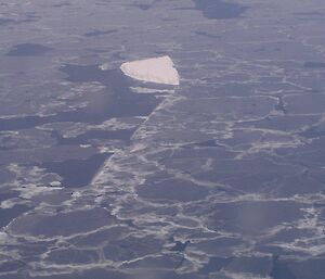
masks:
POLYGON ((142 81, 174 86, 180 84, 179 73, 169 56, 126 62, 120 69, 125 75, 142 81))

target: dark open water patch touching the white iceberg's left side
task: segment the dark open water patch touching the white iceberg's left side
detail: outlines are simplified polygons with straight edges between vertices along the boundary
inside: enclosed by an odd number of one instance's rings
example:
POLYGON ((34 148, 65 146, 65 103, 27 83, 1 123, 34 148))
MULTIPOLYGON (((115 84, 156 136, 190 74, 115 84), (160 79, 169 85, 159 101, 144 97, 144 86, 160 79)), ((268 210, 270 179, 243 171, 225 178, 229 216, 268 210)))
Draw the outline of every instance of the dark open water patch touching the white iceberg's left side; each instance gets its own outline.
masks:
POLYGON ((64 65, 60 71, 67 74, 66 80, 68 81, 100 81, 106 86, 106 93, 91 96, 86 107, 61 112, 55 115, 0 119, 0 130, 26 129, 57 122, 100 124, 113 117, 145 116, 159 102, 152 96, 132 93, 128 87, 128 78, 119 69, 103 72, 98 65, 64 65))

